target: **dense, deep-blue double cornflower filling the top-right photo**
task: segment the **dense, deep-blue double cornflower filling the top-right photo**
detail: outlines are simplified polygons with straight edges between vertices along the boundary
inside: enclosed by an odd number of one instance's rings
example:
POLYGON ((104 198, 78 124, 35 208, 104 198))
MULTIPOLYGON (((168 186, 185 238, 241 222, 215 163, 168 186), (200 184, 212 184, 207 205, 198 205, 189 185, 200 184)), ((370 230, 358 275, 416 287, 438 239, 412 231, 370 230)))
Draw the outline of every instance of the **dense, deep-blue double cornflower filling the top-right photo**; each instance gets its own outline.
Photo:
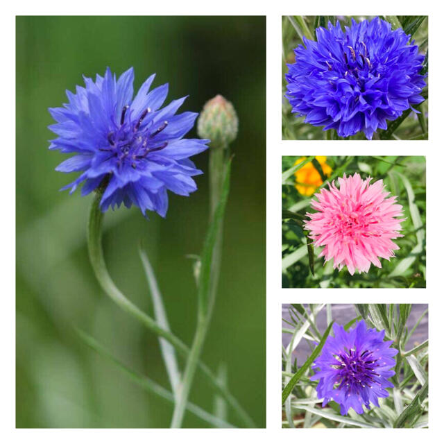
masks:
POLYGON ((424 56, 409 37, 379 17, 359 24, 352 19, 345 31, 339 22, 317 28, 317 42, 304 37, 296 62, 287 65, 292 112, 341 137, 364 131, 367 139, 404 110, 417 112, 411 105, 424 100, 424 56))

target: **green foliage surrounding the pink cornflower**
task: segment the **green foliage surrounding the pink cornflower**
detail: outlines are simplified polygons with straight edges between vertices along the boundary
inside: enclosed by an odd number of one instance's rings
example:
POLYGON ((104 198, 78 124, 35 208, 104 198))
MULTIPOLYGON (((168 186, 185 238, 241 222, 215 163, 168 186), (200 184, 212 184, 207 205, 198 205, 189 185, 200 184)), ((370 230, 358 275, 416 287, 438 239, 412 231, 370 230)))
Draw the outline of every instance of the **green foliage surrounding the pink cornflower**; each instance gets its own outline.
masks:
MULTIPOLYGON (((282 185, 282 287, 425 287, 425 157, 327 157, 327 164, 333 171, 318 189, 343 173, 357 172, 361 177, 382 179, 386 190, 398 196, 407 218, 402 222, 404 237, 396 239, 400 249, 395 251, 395 257, 390 261, 382 259, 382 268, 370 266, 368 273, 353 276, 345 267, 341 271, 333 270, 332 261, 324 264, 323 258, 318 258, 321 248, 314 248, 314 257, 309 255, 303 220, 306 212, 313 211, 310 202, 314 196, 302 196, 295 187, 294 163, 297 159, 282 157, 282 176, 285 177, 282 185)), ((365 317, 365 313, 360 311, 360 314, 365 317)))

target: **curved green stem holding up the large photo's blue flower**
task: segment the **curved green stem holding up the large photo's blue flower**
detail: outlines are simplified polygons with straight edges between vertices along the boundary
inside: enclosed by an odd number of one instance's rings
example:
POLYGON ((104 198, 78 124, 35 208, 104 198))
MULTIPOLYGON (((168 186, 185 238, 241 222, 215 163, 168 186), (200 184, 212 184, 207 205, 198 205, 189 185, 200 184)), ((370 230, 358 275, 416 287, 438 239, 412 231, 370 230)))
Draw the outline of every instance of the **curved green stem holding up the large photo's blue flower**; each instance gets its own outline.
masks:
MULTIPOLYGON (((96 275, 99 284, 103 291, 121 308, 126 311, 131 316, 134 316, 139 322, 141 322, 148 330, 151 330, 158 336, 167 339, 169 343, 173 345, 182 356, 188 357, 190 354, 189 347, 183 343, 177 336, 164 330, 160 325, 158 325, 153 318, 144 313, 139 307, 130 302, 126 296, 121 293, 121 291, 116 287, 108 269, 106 268, 105 259, 103 258, 103 250, 101 244, 101 232, 102 232, 102 222, 103 213, 100 210, 100 201, 103 191, 96 192, 96 196, 91 205, 91 210, 89 212, 89 221, 87 226, 87 242, 89 250, 89 259, 92 264, 92 268, 96 275)), ((230 404, 232 409, 237 412, 239 418, 244 422, 246 427, 255 427, 255 423, 250 418, 248 413, 241 407, 236 398, 232 396, 227 388, 219 384, 216 375, 213 375, 211 370, 205 366, 205 364, 198 362, 198 366, 202 371, 203 375, 207 378, 208 382, 213 386, 213 388, 230 404)))

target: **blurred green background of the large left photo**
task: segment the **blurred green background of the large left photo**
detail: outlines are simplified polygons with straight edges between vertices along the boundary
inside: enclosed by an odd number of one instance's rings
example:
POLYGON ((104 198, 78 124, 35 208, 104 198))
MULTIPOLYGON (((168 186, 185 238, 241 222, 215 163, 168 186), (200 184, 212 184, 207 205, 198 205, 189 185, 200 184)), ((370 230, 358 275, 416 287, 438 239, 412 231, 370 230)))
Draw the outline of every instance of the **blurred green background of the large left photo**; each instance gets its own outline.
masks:
MULTIPOLYGON (((233 395, 265 427, 265 18, 17 17, 17 427, 169 427, 172 406, 130 382, 78 339, 80 327, 127 366, 169 388, 157 337, 99 288, 85 244, 91 196, 58 189, 47 108, 66 101, 82 74, 135 68, 135 90, 153 72, 167 101, 189 94, 200 111, 223 94, 239 115, 225 219, 219 294, 203 361, 228 366, 233 395)), ((192 130, 189 137, 196 137, 192 130)), ((194 157, 207 171, 207 153, 194 157)), ((170 194, 167 219, 121 208, 105 216, 105 258, 117 285, 153 312, 137 244, 148 246, 171 329, 191 343, 196 286, 191 259, 207 228, 206 174, 189 198, 170 194)), ((180 360, 183 364, 183 361, 180 360)), ((191 402, 212 411, 196 375, 191 402)), ((228 420, 239 421, 230 412, 228 420)), ((185 427, 207 424, 187 413, 185 427)))

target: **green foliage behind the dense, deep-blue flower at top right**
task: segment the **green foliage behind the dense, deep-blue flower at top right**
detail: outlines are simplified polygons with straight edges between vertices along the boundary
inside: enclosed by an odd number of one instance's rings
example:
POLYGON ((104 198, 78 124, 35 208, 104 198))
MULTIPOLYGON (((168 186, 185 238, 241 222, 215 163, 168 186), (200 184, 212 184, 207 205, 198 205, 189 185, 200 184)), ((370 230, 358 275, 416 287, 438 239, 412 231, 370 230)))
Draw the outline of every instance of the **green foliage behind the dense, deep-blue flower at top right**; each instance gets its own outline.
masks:
MULTIPOLYGON (((371 19, 373 17, 353 16, 359 22, 362 18, 371 19)), ((424 69, 422 74, 428 71, 428 19, 427 16, 381 16, 388 22, 391 22, 393 28, 403 28, 404 32, 412 36, 419 46, 420 51, 426 54, 424 69)), ((287 16, 282 17, 282 96, 287 90, 287 82, 285 74, 287 74, 287 64, 294 63, 295 56, 293 49, 302 44, 302 37, 313 40, 315 37, 314 30, 318 26, 327 26, 330 21, 341 21, 342 26, 350 25, 351 16, 332 17, 332 16, 287 16)), ((427 82, 427 79, 426 79, 427 82)), ((416 107, 421 114, 415 114, 411 110, 407 110, 395 121, 388 122, 387 130, 378 130, 373 136, 377 139, 428 139, 428 91, 427 87, 422 91, 425 101, 416 107)), ((291 105, 282 97, 282 139, 289 140, 319 140, 319 139, 341 139, 334 130, 323 131, 321 127, 311 126, 304 123, 305 117, 295 117, 291 113, 291 105)), ((358 133, 347 139, 364 140, 364 133, 358 133)))

